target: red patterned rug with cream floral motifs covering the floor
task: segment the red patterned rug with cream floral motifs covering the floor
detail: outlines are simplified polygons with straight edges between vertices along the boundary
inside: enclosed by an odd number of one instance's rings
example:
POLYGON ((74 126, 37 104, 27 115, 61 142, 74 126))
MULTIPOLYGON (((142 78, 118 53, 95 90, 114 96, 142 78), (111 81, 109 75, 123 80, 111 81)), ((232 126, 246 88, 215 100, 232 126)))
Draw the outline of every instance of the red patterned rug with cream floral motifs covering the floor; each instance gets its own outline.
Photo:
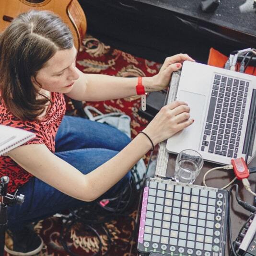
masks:
MULTIPOLYGON (((83 39, 81 52, 77 56, 77 67, 84 73, 99 73, 119 77, 139 77, 155 75, 161 64, 142 58, 134 57, 126 52, 106 46, 93 36, 87 35, 83 39)), ((67 99, 67 110, 74 112, 74 106, 67 99)), ((110 100, 104 102, 86 102, 84 105, 92 105, 103 113, 123 112, 131 117, 131 136, 134 138, 142 130, 148 121, 138 114, 140 108, 140 96, 125 99, 110 100)), ((145 156, 147 163, 149 156, 145 156)), ((102 241, 102 254, 108 256, 136 256, 137 237, 131 241, 134 221, 136 219, 140 193, 135 194, 135 202, 127 209, 128 216, 118 216, 104 223, 104 226, 93 226, 99 233, 102 241), (106 228, 109 235, 103 231, 106 228), (109 248, 109 239, 111 247, 109 248)), ((40 255, 65 256, 67 253, 60 241, 62 220, 58 217, 40 221, 36 230, 42 236, 45 246, 40 255)), ((137 232, 135 232, 137 234, 137 232)), ((66 237, 70 250, 77 255, 91 256, 99 250, 99 239, 92 232, 86 231, 86 227, 77 223, 72 225, 66 237)))

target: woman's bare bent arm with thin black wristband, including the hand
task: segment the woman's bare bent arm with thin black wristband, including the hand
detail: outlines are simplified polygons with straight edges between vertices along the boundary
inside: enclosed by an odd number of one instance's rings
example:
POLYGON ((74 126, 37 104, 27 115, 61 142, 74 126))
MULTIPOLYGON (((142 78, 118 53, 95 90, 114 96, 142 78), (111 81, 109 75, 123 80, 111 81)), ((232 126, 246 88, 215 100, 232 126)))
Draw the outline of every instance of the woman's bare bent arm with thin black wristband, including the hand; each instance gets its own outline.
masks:
MULTIPOLYGON (((192 124, 184 102, 164 106, 144 129, 154 144, 192 124)), ((51 153, 43 144, 20 146, 8 155, 26 171, 71 197, 92 201, 114 186, 151 149, 151 142, 139 134, 116 156, 91 173, 83 175, 51 153)))

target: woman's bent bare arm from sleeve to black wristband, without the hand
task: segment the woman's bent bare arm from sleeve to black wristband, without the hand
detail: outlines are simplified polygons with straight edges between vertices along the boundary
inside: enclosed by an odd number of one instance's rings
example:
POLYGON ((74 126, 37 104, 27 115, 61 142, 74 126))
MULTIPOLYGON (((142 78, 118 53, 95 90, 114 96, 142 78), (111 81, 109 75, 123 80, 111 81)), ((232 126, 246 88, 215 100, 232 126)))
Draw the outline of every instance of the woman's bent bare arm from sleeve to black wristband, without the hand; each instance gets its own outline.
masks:
POLYGON ((92 201, 114 186, 150 148, 150 141, 140 134, 115 157, 87 175, 53 154, 44 144, 20 146, 8 155, 50 186, 73 198, 92 201))

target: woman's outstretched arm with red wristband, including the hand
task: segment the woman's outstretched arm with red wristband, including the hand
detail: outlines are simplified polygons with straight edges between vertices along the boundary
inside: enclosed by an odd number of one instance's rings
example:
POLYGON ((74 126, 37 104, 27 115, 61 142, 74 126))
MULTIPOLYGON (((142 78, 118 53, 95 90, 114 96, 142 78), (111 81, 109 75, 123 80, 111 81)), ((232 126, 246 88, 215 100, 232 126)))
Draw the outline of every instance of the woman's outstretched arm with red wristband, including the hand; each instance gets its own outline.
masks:
MULTIPOLYGON (((186 54, 177 54, 165 59, 159 73, 153 77, 143 77, 146 92, 163 90, 171 79, 172 72, 181 68, 185 60, 194 61, 186 54)), ((67 95, 79 101, 103 101, 136 95, 138 78, 124 78, 100 74, 84 74, 77 70, 80 77, 67 95)))

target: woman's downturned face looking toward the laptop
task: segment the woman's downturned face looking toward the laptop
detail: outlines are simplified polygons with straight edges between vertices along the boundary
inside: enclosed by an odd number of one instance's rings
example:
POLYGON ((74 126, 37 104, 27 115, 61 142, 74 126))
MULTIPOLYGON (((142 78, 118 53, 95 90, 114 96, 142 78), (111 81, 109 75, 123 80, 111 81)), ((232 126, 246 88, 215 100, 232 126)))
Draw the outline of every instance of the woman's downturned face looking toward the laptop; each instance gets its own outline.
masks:
POLYGON ((75 47, 58 50, 32 78, 33 84, 49 92, 69 93, 79 78, 75 67, 76 55, 75 47))

